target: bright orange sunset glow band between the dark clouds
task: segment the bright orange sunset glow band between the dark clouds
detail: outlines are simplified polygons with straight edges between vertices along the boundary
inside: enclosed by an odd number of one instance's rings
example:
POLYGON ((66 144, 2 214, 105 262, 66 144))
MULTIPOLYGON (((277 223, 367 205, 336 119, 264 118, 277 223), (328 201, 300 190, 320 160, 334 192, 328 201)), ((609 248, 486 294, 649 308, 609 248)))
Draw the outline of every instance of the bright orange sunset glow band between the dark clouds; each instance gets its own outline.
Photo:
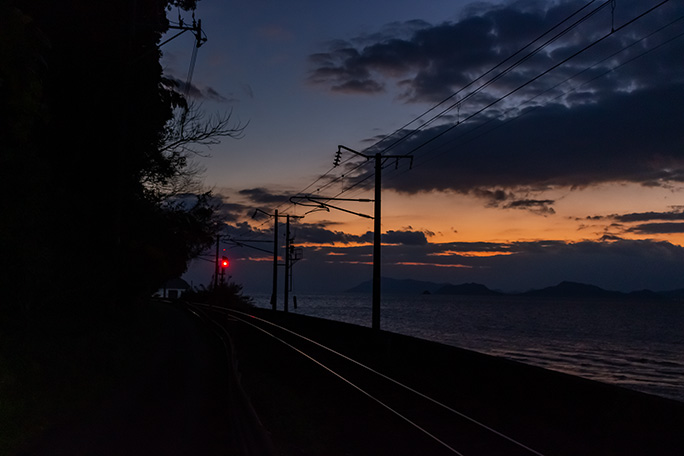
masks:
MULTIPOLYGON (((398 194, 392 190, 383 193, 382 231, 422 232, 431 245, 448 243, 539 242, 554 240, 566 243, 603 242, 610 237, 626 240, 666 241, 684 246, 684 233, 667 233, 667 220, 619 222, 619 216, 631 213, 668 213, 684 206, 677 192, 666 188, 644 188, 636 184, 604 184, 579 189, 553 188, 520 194, 520 198, 549 200, 553 211, 534 212, 506 208, 506 202, 497 203, 456 192, 425 192, 414 195, 398 194), (657 232, 662 223, 663 232, 657 232)), ((361 210, 359 204, 345 206, 361 210)), ((311 242, 295 244, 298 247, 322 251, 330 257, 342 256, 346 249, 370 247, 372 221, 342 212, 311 213, 298 223, 320 225, 339 234, 350 235, 356 242, 311 242), (337 249, 337 252, 329 250, 337 249)), ((296 227, 297 223, 294 224, 296 227)), ((295 228, 296 229, 296 228, 295 228)), ((677 227, 669 228, 676 231, 677 227)), ((340 236, 337 239, 344 239, 340 236)), ((383 246, 390 245, 383 242, 383 246)), ((449 248, 449 246, 445 246, 449 248)), ((468 249, 468 247, 466 247, 468 249)), ((512 255, 504 250, 447 250, 432 253, 435 257, 496 257, 512 255)), ((264 259, 257 261, 265 261, 264 259)))

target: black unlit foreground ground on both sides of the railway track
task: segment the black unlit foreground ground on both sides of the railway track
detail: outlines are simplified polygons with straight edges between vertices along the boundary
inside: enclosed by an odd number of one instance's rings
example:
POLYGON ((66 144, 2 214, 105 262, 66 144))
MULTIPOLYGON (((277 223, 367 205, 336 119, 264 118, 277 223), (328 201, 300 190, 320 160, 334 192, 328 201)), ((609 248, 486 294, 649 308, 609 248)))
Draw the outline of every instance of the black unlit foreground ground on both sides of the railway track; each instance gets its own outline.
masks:
MULTIPOLYGON (((544 455, 684 454, 684 403, 369 328, 254 312, 544 455)), ((267 455, 272 445, 284 456, 433 454, 415 450, 422 448, 422 436, 320 366, 244 323, 221 318, 238 372, 231 371, 225 347, 199 320, 180 307, 153 304, 145 324, 137 326, 147 336, 131 334, 135 356, 119 357, 123 372, 117 381, 100 385, 97 394, 83 392, 87 403, 62 403, 59 415, 9 454, 267 455), (234 373, 259 421, 245 407, 234 373)), ((77 372, 68 370, 72 376, 77 372)), ((62 377, 54 378, 65 381, 62 377)), ((10 421, 16 423, 13 418, 5 423, 10 421)), ((432 424, 438 426, 439 418, 432 424)))

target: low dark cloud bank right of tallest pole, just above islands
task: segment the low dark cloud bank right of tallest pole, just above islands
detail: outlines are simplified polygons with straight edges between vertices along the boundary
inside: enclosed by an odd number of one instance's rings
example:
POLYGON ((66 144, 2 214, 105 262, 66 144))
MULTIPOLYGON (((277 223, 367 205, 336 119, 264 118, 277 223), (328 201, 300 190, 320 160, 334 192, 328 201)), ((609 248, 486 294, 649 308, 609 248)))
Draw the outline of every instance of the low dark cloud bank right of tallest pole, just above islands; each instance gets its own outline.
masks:
POLYGON ((679 277, 684 273, 684 248, 668 242, 612 239, 478 244, 481 243, 437 244, 420 251, 387 246, 383 249, 387 259, 383 273, 395 278, 437 282, 472 281, 507 291, 541 288, 563 280, 622 291, 684 286, 684 278, 679 277), (444 255, 455 251, 454 247, 463 254, 479 251, 488 255, 465 256, 458 251, 444 255), (480 247, 486 250, 478 250, 480 247), (501 254, 496 255, 497 252, 501 254), (400 259, 402 264, 393 265, 390 259, 400 259), (411 262, 416 266, 411 266, 411 262), (445 267, 449 265, 456 267, 445 267))

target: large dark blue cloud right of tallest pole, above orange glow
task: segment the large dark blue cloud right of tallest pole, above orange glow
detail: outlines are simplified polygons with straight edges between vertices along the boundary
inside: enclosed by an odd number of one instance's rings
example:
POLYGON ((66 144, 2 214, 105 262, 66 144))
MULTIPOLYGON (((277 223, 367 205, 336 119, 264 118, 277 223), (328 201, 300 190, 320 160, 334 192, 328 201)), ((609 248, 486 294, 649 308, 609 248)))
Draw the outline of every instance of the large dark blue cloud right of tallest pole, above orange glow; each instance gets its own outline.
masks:
POLYGON ((677 99, 684 99, 684 86, 623 93, 573 108, 547 105, 514 120, 482 119, 450 131, 429 128, 391 149, 415 160, 412 171, 387 179, 387 185, 503 202, 521 199, 517 193, 524 190, 552 186, 682 182, 684 111, 673 103, 677 99))

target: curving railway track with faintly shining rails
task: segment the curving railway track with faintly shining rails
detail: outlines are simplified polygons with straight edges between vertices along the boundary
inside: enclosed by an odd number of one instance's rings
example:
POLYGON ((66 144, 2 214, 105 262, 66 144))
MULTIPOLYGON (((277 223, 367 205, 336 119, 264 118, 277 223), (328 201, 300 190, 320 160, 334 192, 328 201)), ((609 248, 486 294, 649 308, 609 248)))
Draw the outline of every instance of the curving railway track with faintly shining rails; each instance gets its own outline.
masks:
MULTIPOLYGON (((368 454, 378 454, 384 445, 384 449, 389 451, 382 454, 545 456, 515 436, 460 411, 457 406, 418 391, 307 335, 250 313, 203 309, 212 316, 215 325, 229 332, 240 328, 241 334, 249 333, 248 343, 260 345, 265 350, 262 356, 268 353, 268 356, 275 354, 280 360, 288 357, 298 359, 290 368, 274 369, 275 375, 283 378, 271 381, 296 385, 297 376, 305 382, 312 382, 313 377, 314 386, 310 389, 327 391, 327 394, 315 394, 313 391, 311 394, 315 395, 319 410, 327 411, 332 421, 342 423, 344 430, 332 434, 357 435, 361 440, 356 445, 347 442, 347 448, 339 449, 340 454, 363 454, 366 450, 368 454), (349 400, 340 401, 340 398, 349 400), (342 415, 346 418, 341 419, 342 415), (356 431, 355 427, 358 427, 356 431), (350 451, 349 447, 354 447, 354 450, 350 451)), ((310 407, 304 408, 310 410, 310 407)), ((290 410, 288 413, 299 412, 290 410)), ((321 412, 314 413, 314 416, 314 423, 325 419, 321 412)), ((295 422, 293 419, 290 421, 292 424, 295 422)), ((300 421, 306 422, 306 419, 300 421)), ((289 432, 298 431, 290 429, 289 432)), ((340 443, 335 442, 335 438, 330 445, 337 447, 340 443)), ((324 446, 325 442, 320 445, 324 446)), ((328 454, 335 451, 333 448, 327 450, 328 454)))

